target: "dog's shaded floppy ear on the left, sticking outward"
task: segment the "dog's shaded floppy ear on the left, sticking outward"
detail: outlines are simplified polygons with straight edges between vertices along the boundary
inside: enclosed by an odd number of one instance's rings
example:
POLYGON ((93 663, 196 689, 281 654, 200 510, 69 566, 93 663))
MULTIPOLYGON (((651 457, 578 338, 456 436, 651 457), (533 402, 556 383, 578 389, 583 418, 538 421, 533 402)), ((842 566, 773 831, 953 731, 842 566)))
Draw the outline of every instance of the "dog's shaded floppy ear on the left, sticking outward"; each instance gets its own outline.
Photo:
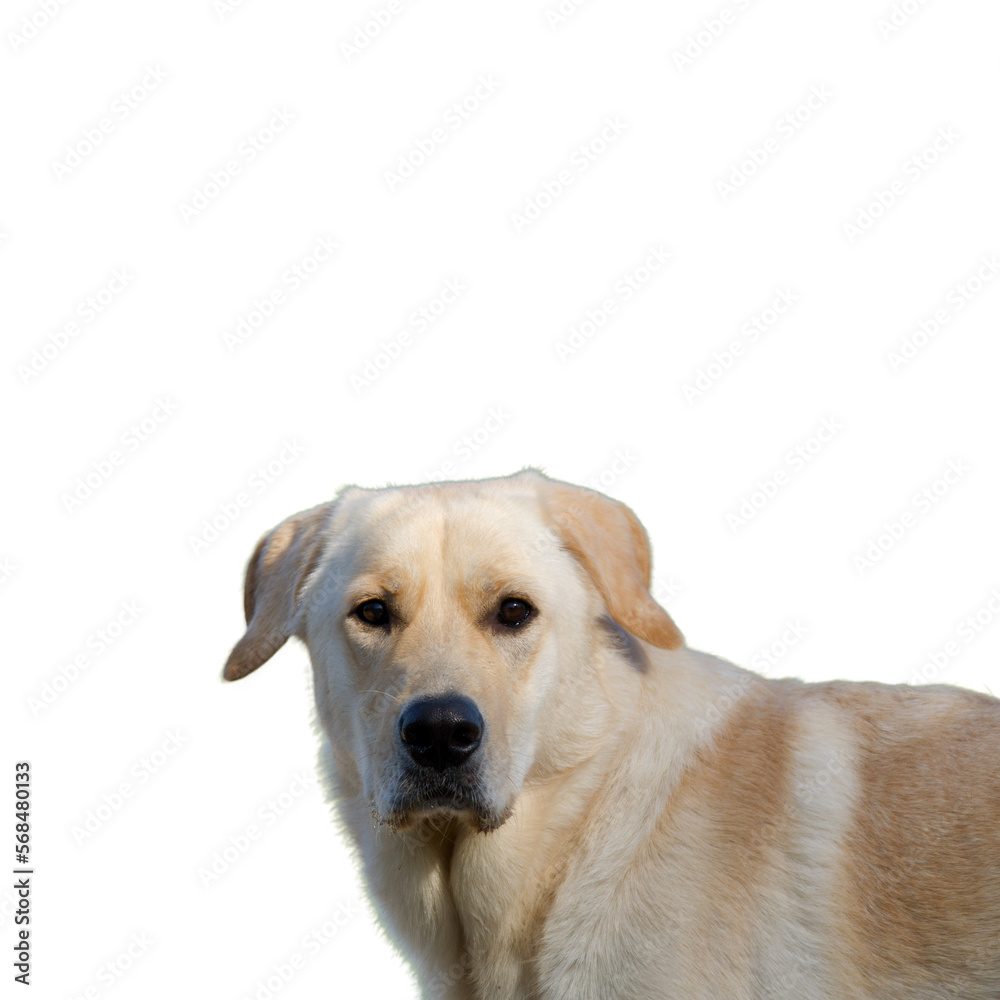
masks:
POLYGON ((331 501, 293 514, 257 543, 243 587, 247 630, 226 660, 225 680, 253 673, 294 632, 302 585, 319 561, 332 510, 331 501))

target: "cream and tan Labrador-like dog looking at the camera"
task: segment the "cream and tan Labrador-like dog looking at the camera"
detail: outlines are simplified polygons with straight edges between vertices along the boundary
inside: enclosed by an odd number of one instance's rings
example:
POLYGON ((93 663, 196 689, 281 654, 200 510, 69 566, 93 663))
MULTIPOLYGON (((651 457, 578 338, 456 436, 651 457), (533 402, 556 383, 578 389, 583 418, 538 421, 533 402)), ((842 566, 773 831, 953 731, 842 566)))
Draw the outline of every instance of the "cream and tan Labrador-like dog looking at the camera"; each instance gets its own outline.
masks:
POLYGON ((684 644, 632 511, 527 469, 361 489, 246 571, 427 1000, 997 1000, 1000 701, 684 644))

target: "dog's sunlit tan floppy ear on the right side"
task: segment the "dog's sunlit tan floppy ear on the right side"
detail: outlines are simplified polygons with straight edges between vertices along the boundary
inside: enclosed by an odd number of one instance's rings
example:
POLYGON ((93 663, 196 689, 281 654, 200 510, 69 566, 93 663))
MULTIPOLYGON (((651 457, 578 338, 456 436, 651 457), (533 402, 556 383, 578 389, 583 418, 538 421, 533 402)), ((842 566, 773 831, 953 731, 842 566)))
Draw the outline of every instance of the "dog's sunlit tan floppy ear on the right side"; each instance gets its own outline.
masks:
POLYGON ((649 541, 623 503, 595 490, 544 481, 541 491, 565 547, 583 564, 619 625, 661 649, 684 637, 649 593, 649 541))

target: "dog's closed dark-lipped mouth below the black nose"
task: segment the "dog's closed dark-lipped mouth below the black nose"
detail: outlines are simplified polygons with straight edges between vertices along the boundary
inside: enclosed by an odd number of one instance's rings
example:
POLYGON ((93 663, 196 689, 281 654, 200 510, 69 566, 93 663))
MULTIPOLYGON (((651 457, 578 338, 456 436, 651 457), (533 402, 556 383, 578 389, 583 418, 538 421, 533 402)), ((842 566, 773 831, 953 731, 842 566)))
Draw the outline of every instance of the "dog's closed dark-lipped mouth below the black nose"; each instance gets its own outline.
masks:
POLYGON ((404 833, 420 820, 456 817, 470 822, 480 833, 490 833, 510 816, 510 808, 498 808, 476 782, 467 782, 447 772, 434 775, 407 774, 397 782, 386 802, 374 797, 372 818, 379 826, 404 833))

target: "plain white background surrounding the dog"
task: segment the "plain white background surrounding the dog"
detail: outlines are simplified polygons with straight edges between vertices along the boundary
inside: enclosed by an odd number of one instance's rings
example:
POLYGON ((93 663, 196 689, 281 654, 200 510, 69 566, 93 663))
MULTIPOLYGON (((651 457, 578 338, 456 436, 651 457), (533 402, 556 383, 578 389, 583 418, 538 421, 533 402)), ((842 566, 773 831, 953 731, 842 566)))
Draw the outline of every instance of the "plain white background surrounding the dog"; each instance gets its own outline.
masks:
POLYGON ((46 2, 0 24, 36 996, 415 995, 304 649, 219 677, 255 541, 345 483, 537 465, 636 510, 694 647, 1000 691, 995 4, 46 2))

